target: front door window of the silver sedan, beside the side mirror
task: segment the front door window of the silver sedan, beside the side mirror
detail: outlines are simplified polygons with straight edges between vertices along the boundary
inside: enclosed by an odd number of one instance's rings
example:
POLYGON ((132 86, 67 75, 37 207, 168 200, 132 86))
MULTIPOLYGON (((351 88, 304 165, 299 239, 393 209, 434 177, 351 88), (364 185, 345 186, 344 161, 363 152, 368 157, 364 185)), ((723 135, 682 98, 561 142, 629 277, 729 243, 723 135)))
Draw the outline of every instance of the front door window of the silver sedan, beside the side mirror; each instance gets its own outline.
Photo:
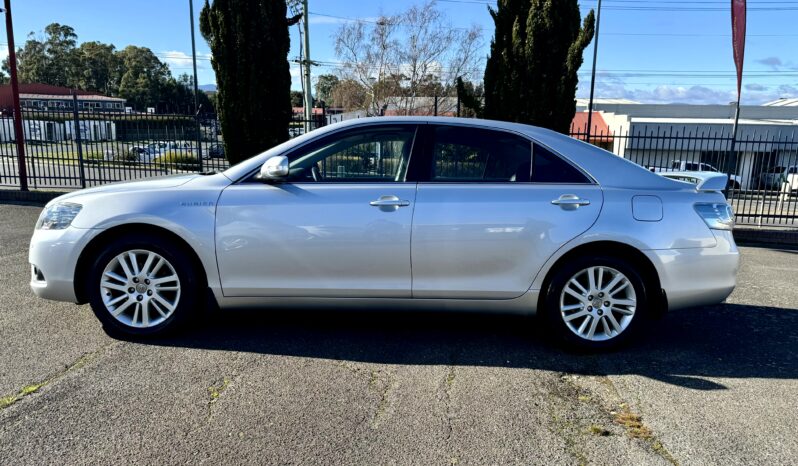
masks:
POLYGON ((333 135, 289 156, 290 181, 404 181, 416 127, 370 127, 333 135))

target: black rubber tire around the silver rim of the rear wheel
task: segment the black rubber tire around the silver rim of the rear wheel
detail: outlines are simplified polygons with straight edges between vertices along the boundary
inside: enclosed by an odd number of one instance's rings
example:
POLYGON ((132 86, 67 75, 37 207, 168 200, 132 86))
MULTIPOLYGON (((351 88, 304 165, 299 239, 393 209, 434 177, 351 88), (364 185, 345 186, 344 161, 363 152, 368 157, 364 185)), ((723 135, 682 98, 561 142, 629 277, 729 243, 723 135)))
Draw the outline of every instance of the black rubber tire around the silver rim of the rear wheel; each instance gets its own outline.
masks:
MULTIPOLYGON (((629 343, 644 330, 652 315, 649 296, 650 293, 645 281, 637 268, 631 263, 612 256, 590 255, 579 257, 559 266, 554 271, 551 279, 548 280, 542 299, 541 317, 557 340, 569 349, 581 351, 609 350, 629 343), (596 266, 609 267, 621 272, 631 283, 636 297, 634 314, 631 316, 627 326, 619 334, 602 341, 588 340, 577 335, 566 324, 563 313, 560 311, 560 299, 566 284, 577 273, 596 266)), ((576 312, 581 312, 581 310, 576 312)), ((610 313, 614 318, 618 316, 612 311, 610 313)), ((595 319, 595 317, 592 318, 595 319)))

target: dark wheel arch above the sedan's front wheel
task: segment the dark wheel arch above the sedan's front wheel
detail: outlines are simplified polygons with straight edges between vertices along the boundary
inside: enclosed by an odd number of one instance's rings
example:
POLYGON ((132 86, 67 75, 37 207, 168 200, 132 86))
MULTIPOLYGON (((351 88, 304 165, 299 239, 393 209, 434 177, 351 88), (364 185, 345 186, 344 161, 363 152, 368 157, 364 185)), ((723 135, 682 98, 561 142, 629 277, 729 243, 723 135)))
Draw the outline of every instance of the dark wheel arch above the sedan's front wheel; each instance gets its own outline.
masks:
POLYGON ((97 254, 99 254, 99 251, 104 246, 121 236, 130 234, 151 234, 164 238, 178 246, 187 254, 195 270, 199 271, 199 279, 203 283, 203 288, 207 288, 208 276, 202 261, 196 251, 194 251, 194 248, 180 237, 180 235, 167 228, 150 223, 126 223, 104 230, 94 237, 80 252, 77 264, 75 265, 74 274, 75 297, 77 298, 78 304, 85 304, 89 301, 89 297, 86 293, 86 280, 89 275, 89 267, 91 267, 92 260, 97 257, 97 254))

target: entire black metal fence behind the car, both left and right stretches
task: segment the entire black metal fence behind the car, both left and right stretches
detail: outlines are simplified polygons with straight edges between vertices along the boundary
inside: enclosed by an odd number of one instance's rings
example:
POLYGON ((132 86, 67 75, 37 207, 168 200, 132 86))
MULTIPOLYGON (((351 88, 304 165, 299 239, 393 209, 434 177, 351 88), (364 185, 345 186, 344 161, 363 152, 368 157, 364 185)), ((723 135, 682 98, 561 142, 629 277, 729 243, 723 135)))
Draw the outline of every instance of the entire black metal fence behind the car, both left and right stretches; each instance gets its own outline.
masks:
MULTIPOLYGON (((309 125, 324 126, 331 118, 340 116, 318 115, 309 125)), ((303 134, 305 123, 292 121, 289 135, 303 134)), ((79 189, 229 166, 215 115, 25 111, 22 127, 32 189, 79 189)), ((738 223, 798 228, 795 132, 749 134, 734 150, 728 133, 652 126, 571 136, 655 172, 728 172, 727 198, 738 223)), ((12 117, 0 117, 0 187, 20 183, 15 139, 12 117)))

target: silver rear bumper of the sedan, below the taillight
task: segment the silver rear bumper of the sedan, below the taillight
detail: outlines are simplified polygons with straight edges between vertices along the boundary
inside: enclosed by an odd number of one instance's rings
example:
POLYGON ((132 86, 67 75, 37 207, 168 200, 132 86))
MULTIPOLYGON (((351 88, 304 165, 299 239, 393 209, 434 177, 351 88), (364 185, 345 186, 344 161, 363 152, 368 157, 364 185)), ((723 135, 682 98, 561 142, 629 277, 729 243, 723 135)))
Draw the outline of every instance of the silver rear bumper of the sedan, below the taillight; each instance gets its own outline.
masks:
POLYGON ((643 251, 657 268, 669 310, 717 304, 734 291, 740 265, 737 245, 730 231, 712 233, 715 247, 643 251))

